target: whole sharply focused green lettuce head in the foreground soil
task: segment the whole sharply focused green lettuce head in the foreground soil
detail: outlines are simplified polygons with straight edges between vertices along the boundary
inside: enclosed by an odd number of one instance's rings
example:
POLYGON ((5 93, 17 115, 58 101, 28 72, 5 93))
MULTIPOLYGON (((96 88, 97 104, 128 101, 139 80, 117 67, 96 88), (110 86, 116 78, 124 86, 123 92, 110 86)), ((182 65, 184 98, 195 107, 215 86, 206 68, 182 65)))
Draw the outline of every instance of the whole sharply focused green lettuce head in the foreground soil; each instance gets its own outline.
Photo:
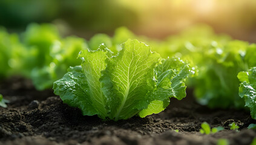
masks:
POLYGON ((82 50, 79 57, 82 65, 70 67, 54 82, 54 93, 82 114, 103 120, 163 111, 169 98, 186 96, 184 82, 193 73, 182 60, 160 59, 138 40, 127 40, 117 54, 100 45, 94 51, 82 50))

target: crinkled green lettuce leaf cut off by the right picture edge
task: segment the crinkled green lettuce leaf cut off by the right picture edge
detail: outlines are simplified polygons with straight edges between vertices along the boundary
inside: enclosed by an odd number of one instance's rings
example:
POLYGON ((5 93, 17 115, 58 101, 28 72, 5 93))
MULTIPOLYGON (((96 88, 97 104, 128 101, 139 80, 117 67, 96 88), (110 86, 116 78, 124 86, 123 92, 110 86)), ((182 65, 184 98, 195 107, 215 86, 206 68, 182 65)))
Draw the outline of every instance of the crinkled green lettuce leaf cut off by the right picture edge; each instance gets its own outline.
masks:
POLYGON ((239 72, 237 77, 241 81, 239 95, 245 99, 245 106, 250 109, 252 118, 256 119, 256 67, 239 72))

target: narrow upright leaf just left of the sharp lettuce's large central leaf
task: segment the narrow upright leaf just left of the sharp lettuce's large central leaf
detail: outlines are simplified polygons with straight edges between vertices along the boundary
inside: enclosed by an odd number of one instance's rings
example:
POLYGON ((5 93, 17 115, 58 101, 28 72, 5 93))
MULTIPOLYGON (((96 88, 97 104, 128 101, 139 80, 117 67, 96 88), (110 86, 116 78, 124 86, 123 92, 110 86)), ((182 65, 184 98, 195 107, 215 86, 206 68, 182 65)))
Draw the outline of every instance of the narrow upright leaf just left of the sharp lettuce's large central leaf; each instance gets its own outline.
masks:
POLYGON ((97 51, 82 50, 79 57, 82 58, 82 68, 89 86, 90 98, 100 118, 107 116, 107 98, 101 91, 102 83, 99 82, 101 71, 106 68, 107 48, 100 47, 97 51))

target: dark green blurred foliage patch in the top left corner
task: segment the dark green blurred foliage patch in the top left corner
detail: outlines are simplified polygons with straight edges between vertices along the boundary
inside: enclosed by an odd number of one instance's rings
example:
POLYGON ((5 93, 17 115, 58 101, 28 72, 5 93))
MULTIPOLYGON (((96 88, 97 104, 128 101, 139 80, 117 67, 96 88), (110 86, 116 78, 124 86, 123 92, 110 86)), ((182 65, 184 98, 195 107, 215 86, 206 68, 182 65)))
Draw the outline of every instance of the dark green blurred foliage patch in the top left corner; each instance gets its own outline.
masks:
POLYGON ((0 25, 8 28, 26 27, 31 22, 50 22, 59 13, 56 0, 0 1, 0 25))

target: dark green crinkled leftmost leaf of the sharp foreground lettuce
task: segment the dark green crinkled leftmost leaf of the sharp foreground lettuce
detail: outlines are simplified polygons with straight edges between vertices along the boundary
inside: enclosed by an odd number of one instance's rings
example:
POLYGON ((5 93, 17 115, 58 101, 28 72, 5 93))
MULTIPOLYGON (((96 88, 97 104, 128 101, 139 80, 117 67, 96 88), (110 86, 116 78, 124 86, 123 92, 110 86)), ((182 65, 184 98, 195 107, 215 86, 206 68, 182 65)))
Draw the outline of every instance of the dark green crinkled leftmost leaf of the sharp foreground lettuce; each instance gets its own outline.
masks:
POLYGON ((70 67, 62 79, 54 82, 53 89, 54 94, 59 95, 64 103, 79 108, 83 115, 97 114, 81 66, 70 67))

